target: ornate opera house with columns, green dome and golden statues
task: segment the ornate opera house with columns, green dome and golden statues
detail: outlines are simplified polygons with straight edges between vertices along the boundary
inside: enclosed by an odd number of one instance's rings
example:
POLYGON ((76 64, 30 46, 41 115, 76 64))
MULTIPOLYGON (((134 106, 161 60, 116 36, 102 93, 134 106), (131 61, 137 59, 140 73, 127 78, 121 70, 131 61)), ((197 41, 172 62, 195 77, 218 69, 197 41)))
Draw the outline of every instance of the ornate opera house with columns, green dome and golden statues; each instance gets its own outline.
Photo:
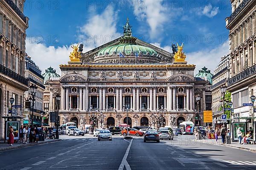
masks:
POLYGON ((60 65, 62 123, 109 127, 127 123, 128 116, 128 125, 157 127, 159 115, 162 125, 195 122, 198 94, 200 111, 206 109, 207 82, 194 78, 195 65, 185 61, 183 45, 175 54, 164 51, 132 37, 127 21, 123 37, 86 53, 82 45, 73 48, 70 62, 60 65))

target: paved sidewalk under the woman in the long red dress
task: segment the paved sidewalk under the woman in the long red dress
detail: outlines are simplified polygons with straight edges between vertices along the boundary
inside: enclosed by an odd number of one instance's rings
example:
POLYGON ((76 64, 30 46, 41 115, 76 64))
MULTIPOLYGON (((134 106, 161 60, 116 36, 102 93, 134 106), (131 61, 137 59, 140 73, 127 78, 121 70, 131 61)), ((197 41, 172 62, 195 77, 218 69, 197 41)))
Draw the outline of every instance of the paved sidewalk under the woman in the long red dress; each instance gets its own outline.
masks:
POLYGON ((11 150, 11 149, 17 149, 21 147, 28 147, 28 146, 33 146, 33 145, 38 145, 38 144, 45 144, 45 143, 50 143, 50 142, 57 142, 61 141, 61 139, 44 139, 44 141, 38 141, 38 143, 14 143, 13 146, 10 146, 9 144, 3 143, 3 141, 0 141, 0 151, 3 150, 11 150))

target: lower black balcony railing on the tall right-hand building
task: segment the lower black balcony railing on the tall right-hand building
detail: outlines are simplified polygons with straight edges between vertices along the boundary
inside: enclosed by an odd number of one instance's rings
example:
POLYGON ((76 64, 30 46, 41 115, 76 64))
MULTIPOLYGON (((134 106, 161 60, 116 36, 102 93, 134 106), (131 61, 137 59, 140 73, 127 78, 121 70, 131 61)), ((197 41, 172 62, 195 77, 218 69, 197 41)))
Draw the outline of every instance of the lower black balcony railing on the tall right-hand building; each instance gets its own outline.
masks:
POLYGON ((227 85, 233 85, 236 82, 241 81, 242 79, 245 79, 253 74, 256 74, 256 65, 251 66, 250 68, 247 68, 246 70, 242 71, 241 73, 237 74, 236 76, 230 78, 227 81, 227 85))

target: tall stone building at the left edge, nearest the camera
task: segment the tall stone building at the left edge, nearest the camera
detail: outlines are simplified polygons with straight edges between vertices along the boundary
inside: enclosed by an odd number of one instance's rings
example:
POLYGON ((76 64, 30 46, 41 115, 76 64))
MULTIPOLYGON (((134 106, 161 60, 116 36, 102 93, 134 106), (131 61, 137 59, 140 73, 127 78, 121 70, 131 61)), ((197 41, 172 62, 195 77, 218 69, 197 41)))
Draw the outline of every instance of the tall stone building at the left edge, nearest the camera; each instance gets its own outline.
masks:
MULTIPOLYGON (((24 92, 28 90, 25 75, 25 39, 28 18, 23 14, 25 0, 0 1, 0 139, 3 139, 3 116, 23 116, 23 107, 13 109, 9 99, 15 99, 14 105, 22 105, 24 92)), ((18 119, 20 120, 20 119, 18 119)))

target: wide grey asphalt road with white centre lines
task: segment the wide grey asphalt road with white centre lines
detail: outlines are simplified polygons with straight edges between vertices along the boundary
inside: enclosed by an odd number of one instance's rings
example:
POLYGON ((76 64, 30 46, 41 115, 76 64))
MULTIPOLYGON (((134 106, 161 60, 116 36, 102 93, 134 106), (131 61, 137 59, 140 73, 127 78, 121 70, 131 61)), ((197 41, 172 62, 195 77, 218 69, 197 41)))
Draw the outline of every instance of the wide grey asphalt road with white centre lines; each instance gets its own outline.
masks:
POLYGON ((61 136, 63 141, 0 152, 0 170, 256 170, 256 153, 194 142, 143 142, 143 137, 97 141, 61 136))

